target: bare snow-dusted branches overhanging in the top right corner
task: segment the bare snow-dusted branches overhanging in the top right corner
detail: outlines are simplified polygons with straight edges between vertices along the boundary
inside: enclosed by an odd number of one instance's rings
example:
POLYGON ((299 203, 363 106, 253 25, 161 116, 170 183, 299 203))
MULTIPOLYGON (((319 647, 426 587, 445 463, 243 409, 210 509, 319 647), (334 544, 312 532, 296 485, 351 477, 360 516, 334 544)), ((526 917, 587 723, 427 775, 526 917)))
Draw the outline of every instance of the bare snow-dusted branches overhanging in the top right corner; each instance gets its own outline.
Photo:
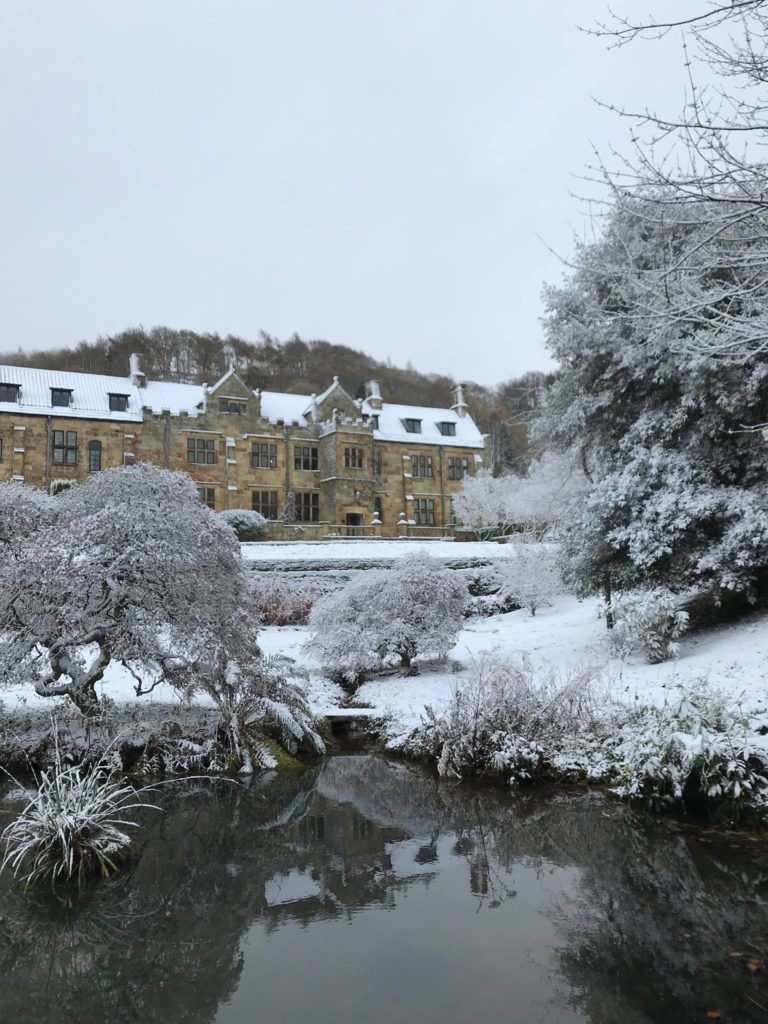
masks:
POLYGON ((620 53, 636 40, 679 33, 686 79, 683 109, 657 111, 640 103, 633 112, 613 106, 630 122, 632 147, 617 167, 606 159, 596 173, 627 211, 636 207, 638 196, 653 189, 656 203, 645 211, 650 232, 683 221, 706 225, 709 240, 717 242, 702 249, 701 234, 694 232, 659 249, 654 263, 664 264, 666 275, 674 279, 681 269, 709 263, 716 287, 648 291, 649 326, 651 317, 674 316, 690 328, 679 339, 681 345, 726 364, 750 364, 762 359, 768 347, 768 313, 760 298, 765 265, 760 250, 768 229, 763 154, 768 4, 701 0, 672 15, 669 4, 655 6, 657 13, 651 8, 640 17, 613 8, 608 24, 593 31, 620 53), (719 273, 723 252, 730 272, 719 273), (705 325, 707 330, 696 330, 705 325))

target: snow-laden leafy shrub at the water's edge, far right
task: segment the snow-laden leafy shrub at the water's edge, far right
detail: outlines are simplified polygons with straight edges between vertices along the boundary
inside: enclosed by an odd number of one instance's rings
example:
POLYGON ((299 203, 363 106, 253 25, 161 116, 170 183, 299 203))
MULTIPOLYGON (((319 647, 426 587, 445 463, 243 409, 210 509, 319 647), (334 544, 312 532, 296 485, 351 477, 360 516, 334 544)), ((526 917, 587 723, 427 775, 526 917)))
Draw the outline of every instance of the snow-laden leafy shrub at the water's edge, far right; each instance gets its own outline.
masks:
POLYGON ((768 799, 768 749, 739 702, 702 683, 624 723, 611 752, 615 792, 654 808, 715 805, 729 816, 768 799))

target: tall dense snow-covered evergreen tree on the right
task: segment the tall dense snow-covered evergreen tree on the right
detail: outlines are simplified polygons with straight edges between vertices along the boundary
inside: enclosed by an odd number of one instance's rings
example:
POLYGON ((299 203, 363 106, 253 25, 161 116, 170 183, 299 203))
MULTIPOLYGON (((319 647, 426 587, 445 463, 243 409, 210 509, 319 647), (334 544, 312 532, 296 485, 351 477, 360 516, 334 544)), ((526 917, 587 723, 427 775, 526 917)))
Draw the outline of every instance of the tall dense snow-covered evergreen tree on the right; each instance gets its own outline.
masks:
MULTIPOLYGON (((657 212, 654 196, 618 206, 547 292, 561 371, 538 430, 591 477, 563 517, 563 567, 581 593, 606 590, 606 603, 611 587, 749 590, 768 569, 768 460, 743 430, 768 420, 768 352, 738 366, 689 344, 718 330, 718 308, 733 310, 734 280, 751 281, 745 313, 768 303, 762 246, 753 240, 752 268, 733 266, 705 210, 666 222, 657 212), (671 252, 684 257, 674 274, 671 252), (677 314, 694 291, 709 294, 712 316, 677 314)), ((745 245, 753 227, 741 225, 745 245)))

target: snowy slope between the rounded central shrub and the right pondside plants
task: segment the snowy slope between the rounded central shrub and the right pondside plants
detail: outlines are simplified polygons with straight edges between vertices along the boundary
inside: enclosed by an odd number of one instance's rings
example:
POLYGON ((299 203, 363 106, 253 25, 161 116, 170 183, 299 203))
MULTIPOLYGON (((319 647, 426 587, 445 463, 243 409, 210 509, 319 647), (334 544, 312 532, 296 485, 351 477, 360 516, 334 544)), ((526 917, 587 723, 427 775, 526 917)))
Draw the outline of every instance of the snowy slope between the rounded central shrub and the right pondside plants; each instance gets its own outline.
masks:
MULTIPOLYGON (((344 701, 341 687, 325 679, 303 628, 272 628, 261 635, 264 650, 295 657, 310 672, 309 696, 322 714, 344 701)), ((419 676, 390 676, 366 683, 355 702, 370 705, 390 719, 389 733, 402 735, 416 726, 427 705, 443 708, 454 689, 463 685, 483 654, 498 651, 509 658, 526 658, 542 673, 565 679, 590 670, 606 694, 626 703, 663 703, 679 682, 707 681, 732 694, 745 694, 751 706, 768 705, 768 616, 756 616, 684 639, 680 656, 663 665, 647 665, 637 655, 628 662, 609 657, 606 630, 596 600, 561 597, 551 608, 531 617, 527 611, 470 620, 451 653, 451 663, 419 676)))

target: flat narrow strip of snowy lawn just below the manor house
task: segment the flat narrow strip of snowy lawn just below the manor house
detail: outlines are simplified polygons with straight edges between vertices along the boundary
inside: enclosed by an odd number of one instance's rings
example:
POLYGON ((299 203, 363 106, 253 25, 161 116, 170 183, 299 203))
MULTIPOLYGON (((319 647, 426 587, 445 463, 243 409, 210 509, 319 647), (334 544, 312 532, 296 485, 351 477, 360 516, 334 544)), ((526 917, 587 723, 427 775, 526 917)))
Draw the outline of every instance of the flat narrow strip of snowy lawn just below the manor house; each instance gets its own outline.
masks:
POLYGON ((256 541, 241 545, 252 562, 386 560, 426 553, 434 558, 509 558, 515 548, 493 541, 413 540, 382 541, 358 538, 338 541, 256 541))

